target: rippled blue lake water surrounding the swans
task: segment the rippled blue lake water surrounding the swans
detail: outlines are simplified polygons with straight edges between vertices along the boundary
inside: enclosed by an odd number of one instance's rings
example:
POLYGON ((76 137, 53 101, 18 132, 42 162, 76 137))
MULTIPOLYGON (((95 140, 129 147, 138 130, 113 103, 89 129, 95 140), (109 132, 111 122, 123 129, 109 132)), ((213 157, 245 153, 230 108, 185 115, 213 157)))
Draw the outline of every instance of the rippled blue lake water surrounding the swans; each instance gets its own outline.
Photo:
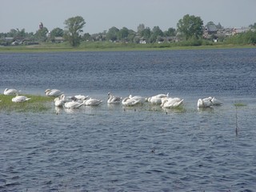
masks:
POLYGON ((0 54, 2 91, 103 100, 1 112, 0 191, 255 191, 255 72, 256 49, 0 54), (184 106, 110 106, 108 92, 184 106), (224 104, 198 110, 209 96, 224 104))

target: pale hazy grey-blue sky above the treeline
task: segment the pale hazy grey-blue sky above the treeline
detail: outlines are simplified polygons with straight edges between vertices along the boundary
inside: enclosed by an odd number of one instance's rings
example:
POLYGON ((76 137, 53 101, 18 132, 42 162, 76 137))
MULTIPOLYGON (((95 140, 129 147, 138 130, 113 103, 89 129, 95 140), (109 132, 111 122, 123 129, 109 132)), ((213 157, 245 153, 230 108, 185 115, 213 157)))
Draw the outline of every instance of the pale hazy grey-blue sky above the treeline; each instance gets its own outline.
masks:
POLYGON ((256 22, 256 0, 1 0, 0 33, 10 29, 36 32, 39 22, 48 30, 64 29, 70 17, 85 19, 85 33, 99 33, 112 26, 137 31, 140 23, 176 29, 185 14, 225 27, 249 26, 256 22))

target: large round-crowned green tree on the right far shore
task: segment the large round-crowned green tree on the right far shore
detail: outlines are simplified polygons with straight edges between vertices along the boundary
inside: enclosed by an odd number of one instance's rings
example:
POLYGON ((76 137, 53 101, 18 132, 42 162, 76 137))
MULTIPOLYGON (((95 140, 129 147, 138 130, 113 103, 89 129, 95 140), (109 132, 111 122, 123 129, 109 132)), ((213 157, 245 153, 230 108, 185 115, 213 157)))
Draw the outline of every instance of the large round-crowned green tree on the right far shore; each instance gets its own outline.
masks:
POLYGON ((187 41, 189 38, 199 38, 202 36, 203 22, 200 17, 186 14, 183 18, 178 20, 177 28, 178 32, 182 33, 187 41))

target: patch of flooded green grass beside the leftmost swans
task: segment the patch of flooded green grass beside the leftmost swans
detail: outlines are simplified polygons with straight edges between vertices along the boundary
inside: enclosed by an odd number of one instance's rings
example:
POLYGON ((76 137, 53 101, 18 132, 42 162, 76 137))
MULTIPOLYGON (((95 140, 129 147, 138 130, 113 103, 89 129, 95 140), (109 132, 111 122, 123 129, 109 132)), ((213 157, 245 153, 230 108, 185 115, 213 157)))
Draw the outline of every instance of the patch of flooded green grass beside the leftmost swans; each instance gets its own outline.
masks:
POLYGON ((11 99, 15 96, 0 94, 0 112, 44 112, 50 110, 50 102, 54 98, 46 96, 24 94, 27 98, 31 98, 27 102, 12 102, 11 99))

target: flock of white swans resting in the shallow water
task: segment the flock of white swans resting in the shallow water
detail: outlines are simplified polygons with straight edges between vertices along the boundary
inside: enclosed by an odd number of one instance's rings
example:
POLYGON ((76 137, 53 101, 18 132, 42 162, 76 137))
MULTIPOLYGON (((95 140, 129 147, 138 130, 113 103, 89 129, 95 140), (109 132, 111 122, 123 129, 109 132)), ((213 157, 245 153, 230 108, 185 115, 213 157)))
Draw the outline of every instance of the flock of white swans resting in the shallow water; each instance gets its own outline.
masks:
MULTIPOLYGON (((16 95, 12 98, 12 102, 27 102, 31 98, 27 98, 26 96, 19 95, 21 93, 20 90, 15 89, 7 89, 4 90, 5 95, 16 95)), ((89 98, 89 96, 85 95, 74 95, 72 97, 66 97, 65 94, 61 90, 45 90, 45 94, 48 97, 54 97, 54 106, 63 107, 65 109, 78 109, 81 106, 98 106, 102 104, 102 100, 97 98, 89 98)), ((145 98, 142 96, 128 96, 126 98, 122 98, 116 96, 114 94, 108 93, 108 104, 122 104, 122 106, 136 106, 142 105, 144 102, 149 102, 153 105, 162 106, 165 109, 172 109, 178 106, 182 106, 183 99, 182 98, 170 98, 169 94, 157 94, 150 98, 145 98)), ((220 106, 222 102, 214 97, 208 98, 199 98, 198 99, 198 108, 206 108, 212 106, 220 106)))

